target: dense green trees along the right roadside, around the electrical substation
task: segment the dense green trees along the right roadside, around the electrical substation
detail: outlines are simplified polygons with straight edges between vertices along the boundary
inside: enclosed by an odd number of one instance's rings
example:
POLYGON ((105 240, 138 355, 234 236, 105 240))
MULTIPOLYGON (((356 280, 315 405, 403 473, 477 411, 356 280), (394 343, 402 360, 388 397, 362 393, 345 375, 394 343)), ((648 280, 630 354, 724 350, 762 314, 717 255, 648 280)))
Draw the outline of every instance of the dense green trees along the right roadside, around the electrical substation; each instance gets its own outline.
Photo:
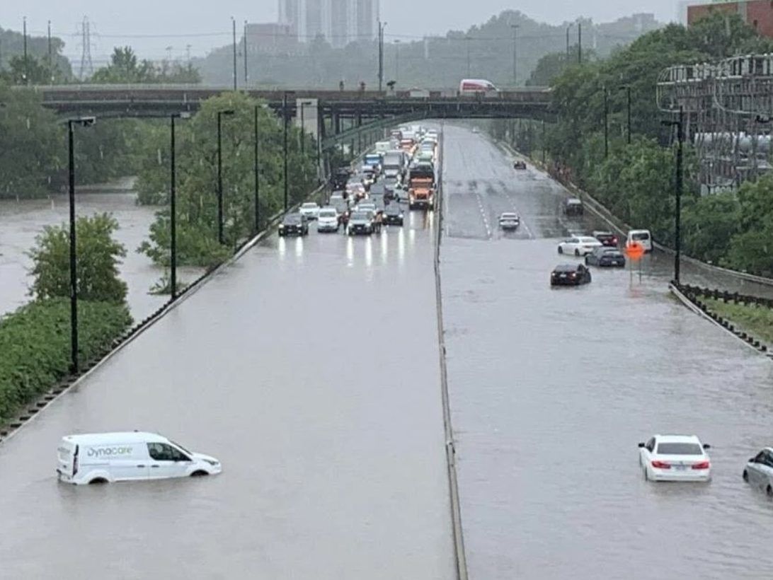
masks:
MULTIPOLYGON (((737 15, 714 13, 686 28, 671 24, 649 32, 606 59, 564 63, 546 56, 533 76, 550 76, 557 122, 524 124, 515 136, 522 151, 545 149, 550 170, 594 195, 632 226, 674 243, 673 129, 656 107, 658 74, 667 66, 736 54, 773 52, 737 15), (553 71, 551 73, 551 71, 553 71), (628 144, 627 87, 632 97, 628 144), (604 147, 604 91, 608 99, 608 153, 604 147)), ((504 135, 504 125, 495 127, 504 135)), ((737 270, 773 275, 773 177, 745 182, 737 192, 700 195, 696 154, 685 144, 683 249, 695 258, 737 270)))

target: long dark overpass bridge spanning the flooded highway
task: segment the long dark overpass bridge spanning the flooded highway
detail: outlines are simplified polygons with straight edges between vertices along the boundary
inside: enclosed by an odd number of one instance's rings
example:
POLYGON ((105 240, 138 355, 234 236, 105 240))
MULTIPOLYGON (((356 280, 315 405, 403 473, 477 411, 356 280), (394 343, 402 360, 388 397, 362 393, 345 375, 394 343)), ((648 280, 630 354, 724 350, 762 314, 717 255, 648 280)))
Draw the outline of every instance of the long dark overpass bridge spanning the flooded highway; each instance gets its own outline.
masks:
MULTIPOLYGON (((35 86, 43 106, 62 115, 97 117, 165 117, 198 110, 203 101, 230 90, 203 85, 62 85, 35 86)), ((427 117, 445 119, 550 116, 550 91, 545 88, 502 90, 484 97, 460 97, 455 90, 247 90, 269 107, 322 137, 322 147, 357 138, 384 124, 427 117)))

